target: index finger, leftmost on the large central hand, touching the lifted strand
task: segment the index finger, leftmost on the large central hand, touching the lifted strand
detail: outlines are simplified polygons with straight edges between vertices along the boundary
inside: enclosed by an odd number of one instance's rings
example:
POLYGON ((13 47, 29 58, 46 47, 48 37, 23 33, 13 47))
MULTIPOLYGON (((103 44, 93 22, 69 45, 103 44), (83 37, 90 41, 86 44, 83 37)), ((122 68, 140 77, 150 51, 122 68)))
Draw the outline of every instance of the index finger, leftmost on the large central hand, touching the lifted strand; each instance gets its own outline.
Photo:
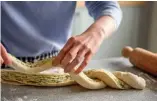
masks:
POLYGON ((70 38, 62 50, 59 52, 58 56, 56 56, 53 65, 61 64, 62 58, 65 56, 65 53, 69 51, 69 49, 73 46, 73 38, 70 38))

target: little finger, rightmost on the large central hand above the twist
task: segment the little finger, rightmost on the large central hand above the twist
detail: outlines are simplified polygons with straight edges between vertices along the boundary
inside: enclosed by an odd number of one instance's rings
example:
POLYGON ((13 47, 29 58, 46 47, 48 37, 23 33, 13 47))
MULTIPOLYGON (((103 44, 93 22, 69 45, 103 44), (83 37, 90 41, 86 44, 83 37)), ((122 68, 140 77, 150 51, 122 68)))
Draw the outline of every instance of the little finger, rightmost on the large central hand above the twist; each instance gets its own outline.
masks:
POLYGON ((92 58, 92 54, 91 53, 87 53, 87 55, 85 56, 84 61, 82 62, 82 64, 78 67, 78 69, 75 71, 76 74, 79 74, 89 63, 89 61, 92 58))

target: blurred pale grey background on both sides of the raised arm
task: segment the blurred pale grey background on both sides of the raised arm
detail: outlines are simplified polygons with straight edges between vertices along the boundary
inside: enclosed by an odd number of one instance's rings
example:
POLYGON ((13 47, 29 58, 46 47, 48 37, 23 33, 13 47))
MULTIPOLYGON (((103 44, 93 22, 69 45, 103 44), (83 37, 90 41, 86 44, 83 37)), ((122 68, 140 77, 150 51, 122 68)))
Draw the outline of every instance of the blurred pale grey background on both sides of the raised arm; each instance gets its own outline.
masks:
MULTIPOLYGON (((157 2, 119 1, 123 19, 119 29, 103 42, 93 59, 121 56, 123 47, 141 47, 157 53, 157 2)), ((92 23, 83 1, 77 2, 73 35, 84 32, 92 23)))

